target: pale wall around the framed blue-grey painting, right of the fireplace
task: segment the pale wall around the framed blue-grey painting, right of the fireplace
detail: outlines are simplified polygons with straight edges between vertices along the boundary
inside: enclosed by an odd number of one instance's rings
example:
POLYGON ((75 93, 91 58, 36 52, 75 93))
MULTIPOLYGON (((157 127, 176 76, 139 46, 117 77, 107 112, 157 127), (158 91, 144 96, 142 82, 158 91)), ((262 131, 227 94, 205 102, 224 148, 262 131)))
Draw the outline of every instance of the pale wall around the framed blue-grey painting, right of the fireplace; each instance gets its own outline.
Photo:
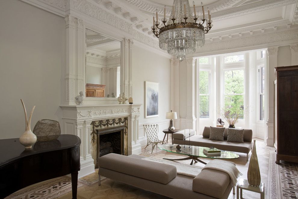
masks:
MULTIPOLYGON (((163 138, 163 129, 169 127, 166 112, 170 106, 170 62, 159 54, 155 54, 143 47, 134 45, 132 49, 132 77, 133 77, 133 101, 141 103, 141 115, 139 118, 139 138, 144 136, 143 124, 158 124, 159 137, 163 138), (145 81, 160 83, 159 90, 159 117, 145 118, 145 81)), ((142 143, 144 144, 144 143, 142 143)))

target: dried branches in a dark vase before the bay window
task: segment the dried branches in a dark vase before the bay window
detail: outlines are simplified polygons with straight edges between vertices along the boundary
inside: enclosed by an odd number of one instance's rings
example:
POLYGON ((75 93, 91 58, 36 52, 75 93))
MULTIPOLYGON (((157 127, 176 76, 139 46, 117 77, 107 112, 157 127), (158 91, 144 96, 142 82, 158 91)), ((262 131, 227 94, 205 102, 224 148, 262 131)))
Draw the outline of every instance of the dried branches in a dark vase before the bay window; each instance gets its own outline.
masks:
POLYGON ((229 128, 235 128, 235 124, 238 122, 238 119, 243 117, 244 110, 226 107, 219 109, 218 114, 228 122, 229 128))

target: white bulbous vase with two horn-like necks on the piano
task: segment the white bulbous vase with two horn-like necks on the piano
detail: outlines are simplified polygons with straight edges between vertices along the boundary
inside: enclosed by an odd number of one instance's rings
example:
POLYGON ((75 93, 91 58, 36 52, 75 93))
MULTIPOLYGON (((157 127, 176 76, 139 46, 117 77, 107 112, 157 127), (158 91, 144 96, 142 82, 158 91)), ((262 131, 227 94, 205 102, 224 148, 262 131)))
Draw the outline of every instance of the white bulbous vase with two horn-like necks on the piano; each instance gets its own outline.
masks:
POLYGON ((30 148, 32 148, 33 144, 36 143, 36 140, 37 140, 36 135, 34 133, 32 133, 32 131, 31 131, 31 118, 32 118, 32 114, 35 109, 35 106, 33 106, 33 109, 30 112, 30 116, 29 116, 29 120, 28 120, 26 108, 25 108, 25 105, 24 105, 24 102, 22 99, 21 99, 21 102, 22 102, 24 112, 25 112, 26 128, 25 128, 25 132, 20 137, 20 143, 22 145, 24 145, 26 149, 30 149, 30 148))

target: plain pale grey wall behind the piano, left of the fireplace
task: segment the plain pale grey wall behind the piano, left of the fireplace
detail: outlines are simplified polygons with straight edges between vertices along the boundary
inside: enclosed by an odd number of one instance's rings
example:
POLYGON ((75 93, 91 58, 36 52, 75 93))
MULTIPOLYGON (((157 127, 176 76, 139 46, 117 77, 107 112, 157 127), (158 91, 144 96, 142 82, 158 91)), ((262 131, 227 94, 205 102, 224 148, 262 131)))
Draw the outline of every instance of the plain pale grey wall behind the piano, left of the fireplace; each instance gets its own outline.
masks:
POLYGON ((64 18, 17 0, 0 1, 0 24, 0 139, 5 139, 25 130, 20 99, 28 114, 36 105, 32 130, 39 119, 61 118, 66 31, 64 18))

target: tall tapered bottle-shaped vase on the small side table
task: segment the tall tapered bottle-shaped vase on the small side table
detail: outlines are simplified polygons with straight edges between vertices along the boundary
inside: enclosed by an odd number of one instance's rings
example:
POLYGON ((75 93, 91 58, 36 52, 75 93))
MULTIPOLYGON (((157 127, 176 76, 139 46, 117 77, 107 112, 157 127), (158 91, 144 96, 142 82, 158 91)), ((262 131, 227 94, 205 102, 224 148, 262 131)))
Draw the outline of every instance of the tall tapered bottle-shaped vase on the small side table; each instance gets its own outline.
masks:
POLYGON ((253 140, 253 151, 250 156, 248 171, 247 171, 248 183, 253 187, 258 187, 261 184, 261 175, 259 168, 258 156, 256 154, 256 140, 253 140))

